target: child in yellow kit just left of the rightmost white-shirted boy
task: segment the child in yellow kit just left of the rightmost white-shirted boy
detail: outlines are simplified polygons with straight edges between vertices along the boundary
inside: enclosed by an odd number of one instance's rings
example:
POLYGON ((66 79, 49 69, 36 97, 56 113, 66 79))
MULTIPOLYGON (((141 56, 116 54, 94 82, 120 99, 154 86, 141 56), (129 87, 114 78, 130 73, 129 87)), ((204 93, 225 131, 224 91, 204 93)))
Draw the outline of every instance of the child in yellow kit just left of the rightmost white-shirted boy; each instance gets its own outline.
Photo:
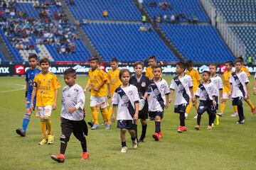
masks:
MULTIPOLYGON (((225 104, 228 100, 228 92, 230 91, 230 76, 233 73, 232 71, 233 62, 227 61, 225 62, 225 72, 223 73, 223 96, 221 98, 220 103, 220 113, 217 115, 223 116, 224 110, 225 110, 225 104)), ((235 117, 238 115, 238 106, 233 106, 234 113, 231 115, 232 117, 235 117)))

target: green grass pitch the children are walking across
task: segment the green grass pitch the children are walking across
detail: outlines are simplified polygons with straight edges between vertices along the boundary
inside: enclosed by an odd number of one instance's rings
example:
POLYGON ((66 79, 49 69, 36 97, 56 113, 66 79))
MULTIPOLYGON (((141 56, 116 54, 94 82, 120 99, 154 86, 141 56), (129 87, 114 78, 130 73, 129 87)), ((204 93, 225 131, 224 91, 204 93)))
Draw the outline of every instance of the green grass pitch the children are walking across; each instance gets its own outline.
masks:
MULTIPOLYGON (((164 77, 170 84, 172 77, 164 77)), ((1 84, 25 84, 24 77, 0 77, 0 91, 18 89, 21 86, 3 86, 1 84)), ((62 87, 63 77, 58 77, 62 87)), ((78 77, 77 83, 85 86, 87 77, 78 77)), ((250 83, 250 98, 255 103, 250 83)), ((228 101, 225 117, 220 118, 220 125, 213 130, 207 130, 208 115, 205 113, 201 121, 201 130, 196 131, 196 115, 194 108, 188 115, 186 125, 188 132, 178 134, 178 114, 174 113, 174 102, 165 111, 161 123, 163 138, 155 142, 154 121, 148 121, 148 129, 144 143, 132 149, 132 141, 127 133, 126 154, 120 152, 121 142, 119 129, 113 123, 112 130, 105 130, 101 125, 99 130, 90 130, 87 137, 87 147, 90 159, 80 160, 82 149, 80 142, 72 135, 65 153, 65 163, 58 164, 50 159, 51 154, 58 154, 60 149, 60 100, 58 109, 52 113, 54 145, 39 146, 41 130, 35 113, 28 125, 26 137, 16 135, 16 128, 21 128, 25 112, 24 90, 0 93, 0 167, 1 169, 255 169, 256 167, 256 115, 250 113, 247 103, 243 102, 245 125, 235 125, 238 118, 231 118, 233 106, 228 101)), ((90 94, 86 94, 86 120, 91 120, 90 94)), ((99 114, 100 123, 102 116, 99 114)), ((141 125, 138 125, 141 134, 141 125)))

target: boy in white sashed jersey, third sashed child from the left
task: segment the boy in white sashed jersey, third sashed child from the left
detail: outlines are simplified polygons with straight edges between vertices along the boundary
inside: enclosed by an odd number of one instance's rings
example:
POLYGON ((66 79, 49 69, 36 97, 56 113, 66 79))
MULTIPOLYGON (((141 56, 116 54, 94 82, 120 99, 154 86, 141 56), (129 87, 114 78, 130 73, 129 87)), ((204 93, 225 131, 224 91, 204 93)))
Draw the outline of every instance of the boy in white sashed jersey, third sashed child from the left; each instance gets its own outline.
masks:
POLYGON ((174 113, 179 114, 180 125, 178 127, 178 132, 186 132, 185 125, 185 111, 186 106, 190 100, 194 103, 196 98, 193 94, 193 81, 190 76, 185 74, 186 64, 183 62, 177 62, 176 73, 177 76, 171 80, 171 94, 169 103, 171 103, 175 91, 175 103, 174 103, 174 113))

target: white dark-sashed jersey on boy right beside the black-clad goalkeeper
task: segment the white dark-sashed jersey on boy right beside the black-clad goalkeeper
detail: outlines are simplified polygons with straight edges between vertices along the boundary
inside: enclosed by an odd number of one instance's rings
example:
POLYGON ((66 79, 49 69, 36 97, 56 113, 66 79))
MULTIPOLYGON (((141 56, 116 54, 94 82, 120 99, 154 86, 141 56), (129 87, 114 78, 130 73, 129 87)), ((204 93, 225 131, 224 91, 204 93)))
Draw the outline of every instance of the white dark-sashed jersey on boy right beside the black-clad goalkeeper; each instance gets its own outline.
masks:
MULTIPOLYGON (((151 80, 151 81, 154 81, 151 80)), ((161 94, 161 98, 164 100, 164 105, 166 103, 166 95, 170 94, 170 89, 168 86, 168 83, 166 82, 165 79, 161 79, 161 81, 154 81, 154 84, 156 84, 157 89, 153 89, 152 82, 150 81, 150 86, 151 86, 151 93, 149 94, 149 111, 163 111, 163 108, 161 107, 161 104, 157 100, 157 95, 161 94)))

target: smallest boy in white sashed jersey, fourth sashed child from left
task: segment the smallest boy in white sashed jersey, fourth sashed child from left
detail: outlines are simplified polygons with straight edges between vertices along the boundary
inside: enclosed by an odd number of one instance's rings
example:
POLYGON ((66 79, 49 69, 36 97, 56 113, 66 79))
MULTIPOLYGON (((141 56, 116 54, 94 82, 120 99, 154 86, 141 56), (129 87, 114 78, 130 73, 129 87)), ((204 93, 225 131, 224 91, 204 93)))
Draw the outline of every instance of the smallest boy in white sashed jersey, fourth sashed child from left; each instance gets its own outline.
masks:
MULTIPOLYGON (((210 66, 213 66, 213 64, 210 64, 210 66)), ((211 73, 209 71, 203 71, 203 82, 198 86, 198 90, 195 94, 196 98, 200 99, 197 111, 197 125, 195 126, 196 130, 201 129, 201 117, 205 111, 208 113, 209 116, 207 129, 211 130, 213 128, 213 121, 216 114, 215 107, 217 106, 216 98, 218 96, 218 90, 215 88, 216 85, 212 81, 210 81, 210 76, 211 73)))

